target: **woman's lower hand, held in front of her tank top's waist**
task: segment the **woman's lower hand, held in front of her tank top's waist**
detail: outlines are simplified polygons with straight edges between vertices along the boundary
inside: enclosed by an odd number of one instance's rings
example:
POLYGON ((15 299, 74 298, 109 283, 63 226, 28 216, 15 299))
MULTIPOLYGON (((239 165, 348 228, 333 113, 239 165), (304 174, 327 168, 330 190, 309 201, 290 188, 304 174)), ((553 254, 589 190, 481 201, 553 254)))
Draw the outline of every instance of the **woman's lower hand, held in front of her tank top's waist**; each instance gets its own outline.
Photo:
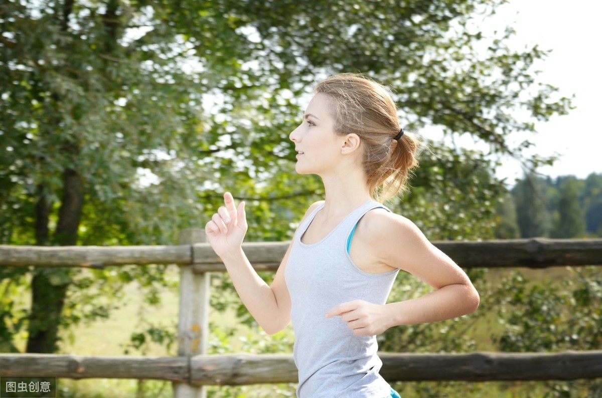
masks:
POLYGON ((344 302, 326 313, 326 318, 340 316, 353 334, 372 336, 390 327, 385 305, 373 304, 364 300, 344 302))

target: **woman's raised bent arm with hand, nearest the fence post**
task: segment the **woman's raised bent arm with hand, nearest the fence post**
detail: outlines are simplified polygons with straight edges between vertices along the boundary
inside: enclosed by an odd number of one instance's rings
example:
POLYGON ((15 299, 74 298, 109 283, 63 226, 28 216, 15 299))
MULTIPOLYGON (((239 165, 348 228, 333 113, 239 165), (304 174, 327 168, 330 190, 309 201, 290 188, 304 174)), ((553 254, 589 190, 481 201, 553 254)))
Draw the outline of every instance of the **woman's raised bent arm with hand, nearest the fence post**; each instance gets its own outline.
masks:
MULTIPOLYGON (((226 266, 234 288, 247 310, 265 332, 274 334, 284 329, 291 319, 291 299, 284 280, 284 270, 292 242, 276 271, 272 286, 268 286, 255 272, 241 246, 247 231, 244 202, 237 208, 232 195, 226 192, 224 204, 205 226, 209 243, 226 266)), ((315 206, 313 204, 309 207, 305 216, 315 206)))

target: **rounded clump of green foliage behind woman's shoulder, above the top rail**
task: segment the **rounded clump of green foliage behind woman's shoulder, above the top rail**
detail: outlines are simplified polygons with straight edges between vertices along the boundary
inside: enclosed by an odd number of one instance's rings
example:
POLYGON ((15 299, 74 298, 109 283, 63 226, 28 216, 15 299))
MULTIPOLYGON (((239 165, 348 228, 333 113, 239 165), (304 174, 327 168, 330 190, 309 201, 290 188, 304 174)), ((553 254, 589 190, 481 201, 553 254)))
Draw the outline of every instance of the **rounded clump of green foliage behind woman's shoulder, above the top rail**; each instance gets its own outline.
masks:
POLYGON ((495 205, 504 192, 483 153, 427 142, 411 191, 391 206, 433 240, 492 238, 495 205))

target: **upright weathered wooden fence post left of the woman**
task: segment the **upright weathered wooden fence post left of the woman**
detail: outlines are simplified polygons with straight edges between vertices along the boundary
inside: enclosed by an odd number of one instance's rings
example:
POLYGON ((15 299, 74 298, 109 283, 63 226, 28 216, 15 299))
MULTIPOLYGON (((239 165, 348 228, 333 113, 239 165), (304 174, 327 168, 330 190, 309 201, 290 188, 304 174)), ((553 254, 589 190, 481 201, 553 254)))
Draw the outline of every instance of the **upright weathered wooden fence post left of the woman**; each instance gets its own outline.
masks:
MULTIPOLYGON (((188 228, 178 236, 179 245, 193 245, 206 242, 204 230, 188 228)), ((192 246, 190 248, 193 256, 192 246)), ((194 257, 193 257, 194 263, 194 257)), ((178 356, 190 358, 207 353, 207 334, 209 331, 209 272, 194 274, 191 265, 180 266, 180 298, 178 314, 178 356)), ((206 388, 187 383, 174 382, 175 398, 205 398, 206 388)))

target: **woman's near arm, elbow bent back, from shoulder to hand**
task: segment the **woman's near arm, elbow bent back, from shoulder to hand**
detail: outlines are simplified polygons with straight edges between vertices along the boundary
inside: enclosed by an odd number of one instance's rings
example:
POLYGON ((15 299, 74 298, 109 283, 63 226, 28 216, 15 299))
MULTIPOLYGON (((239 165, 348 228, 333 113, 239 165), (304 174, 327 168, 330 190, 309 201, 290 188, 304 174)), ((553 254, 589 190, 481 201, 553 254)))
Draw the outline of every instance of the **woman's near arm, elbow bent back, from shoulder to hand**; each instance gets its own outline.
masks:
MULTIPOLYGON (((366 218, 366 217, 365 217, 366 218)), ((468 276, 408 219, 385 212, 366 218, 370 247, 378 261, 420 278, 435 290, 385 305, 356 300, 337 305, 326 317, 341 316, 354 334, 380 334, 397 325, 435 322, 471 313, 479 293, 468 276)))

